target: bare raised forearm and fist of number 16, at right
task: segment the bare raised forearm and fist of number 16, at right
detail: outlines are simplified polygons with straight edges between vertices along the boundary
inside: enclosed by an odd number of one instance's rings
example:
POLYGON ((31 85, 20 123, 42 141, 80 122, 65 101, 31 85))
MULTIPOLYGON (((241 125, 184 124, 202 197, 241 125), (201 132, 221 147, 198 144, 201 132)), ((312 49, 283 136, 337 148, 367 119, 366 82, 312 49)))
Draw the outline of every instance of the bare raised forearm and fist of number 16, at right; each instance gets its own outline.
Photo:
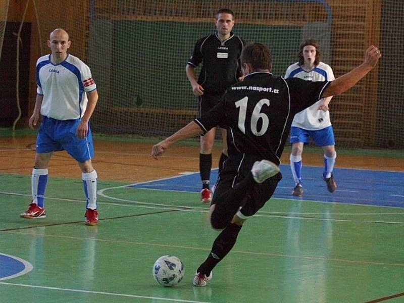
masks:
POLYGON ((338 95, 348 90, 357 84, 359 80, 365 77, 377 65, 381 56, 382 55, 376 46, 369 46, 366 50, 364 62, 350 72, 336 78, 334 81, 331 81, 321 96, 328 97, 338 95))

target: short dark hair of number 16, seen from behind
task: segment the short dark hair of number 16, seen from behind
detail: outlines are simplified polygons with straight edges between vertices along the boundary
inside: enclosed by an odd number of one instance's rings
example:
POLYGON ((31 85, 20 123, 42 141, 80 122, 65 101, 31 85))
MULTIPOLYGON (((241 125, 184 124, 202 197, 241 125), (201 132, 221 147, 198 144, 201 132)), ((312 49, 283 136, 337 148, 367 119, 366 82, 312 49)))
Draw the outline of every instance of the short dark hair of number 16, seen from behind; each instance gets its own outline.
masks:
POLYGON ((241 52, 241 64, 249 63, 253 70, 272 69, 272 55, 267 46, 261 43, 247 43, 241 52))

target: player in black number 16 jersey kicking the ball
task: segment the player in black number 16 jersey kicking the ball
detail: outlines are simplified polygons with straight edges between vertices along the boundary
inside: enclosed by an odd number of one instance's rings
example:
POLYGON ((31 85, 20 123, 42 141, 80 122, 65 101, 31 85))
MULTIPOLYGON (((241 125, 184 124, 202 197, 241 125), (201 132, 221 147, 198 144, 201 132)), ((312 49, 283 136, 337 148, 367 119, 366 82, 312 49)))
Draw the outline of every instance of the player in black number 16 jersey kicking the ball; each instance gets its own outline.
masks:
POLYGON ((282 178, 278 165, 294 115, 321 98, 354 86, 380 57, 378 48, 372 45, 360 66, 333 81, 312 82, 273 77, 269 49, 260 43, 247 44, 241 54, 244 80, 228 88, 220 103, 204 117, 153 146, 151 156, 157 159, 178 140, 206 133, 221 121, 228 127, 229 159, 210 207, 212 227, 223 230, 198 267, 193 285, 207 285, 213 268, 234 246, 244 221, 257 213, 275 191, 282 178))

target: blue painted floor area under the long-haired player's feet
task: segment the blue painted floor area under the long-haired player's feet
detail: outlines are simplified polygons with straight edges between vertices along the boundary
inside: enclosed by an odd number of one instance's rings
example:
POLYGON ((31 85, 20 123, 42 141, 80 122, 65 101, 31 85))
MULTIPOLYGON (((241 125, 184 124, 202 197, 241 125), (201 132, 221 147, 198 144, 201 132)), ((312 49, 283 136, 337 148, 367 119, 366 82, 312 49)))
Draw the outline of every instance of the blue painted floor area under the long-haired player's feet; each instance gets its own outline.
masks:
MULTIPOLYGON (((323 168, 305 166, 302 171, 304 196, 293 197, 291 192, 294 181, 290 167, 289 165, 280 167, 283 178, 273 195, 276 198, 404 208, 404 173, 402 172, 337 168, 334 170, 334 178, 338 188, 334 193, 330 193, 321 177, 323 168)), ((216 182, 217 173, 217 169, 212 170, 211 184, 216 182)), ((134 184, 131 187, 199 192, 201 184, 199 172, 197 172, 134 184)))

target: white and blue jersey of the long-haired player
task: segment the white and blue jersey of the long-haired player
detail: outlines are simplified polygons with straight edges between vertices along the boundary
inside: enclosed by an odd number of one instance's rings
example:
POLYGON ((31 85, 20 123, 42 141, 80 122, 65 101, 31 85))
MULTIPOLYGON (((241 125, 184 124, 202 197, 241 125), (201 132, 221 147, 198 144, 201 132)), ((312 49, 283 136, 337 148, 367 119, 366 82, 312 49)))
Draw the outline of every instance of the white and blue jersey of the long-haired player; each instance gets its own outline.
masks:
MULTIPOLYGON (((332 81, 334 73, 329 65, 320 62, 311 71, 303 70, 298 62, 289 66, 286 70, 285 78, 300 78, 310 81, 332 81)), ((294 115, 292 126, 307 130, 319 130, 331 126, 330 112, 319 110, 324 99, 318 100, 314 105, 294 115)))

